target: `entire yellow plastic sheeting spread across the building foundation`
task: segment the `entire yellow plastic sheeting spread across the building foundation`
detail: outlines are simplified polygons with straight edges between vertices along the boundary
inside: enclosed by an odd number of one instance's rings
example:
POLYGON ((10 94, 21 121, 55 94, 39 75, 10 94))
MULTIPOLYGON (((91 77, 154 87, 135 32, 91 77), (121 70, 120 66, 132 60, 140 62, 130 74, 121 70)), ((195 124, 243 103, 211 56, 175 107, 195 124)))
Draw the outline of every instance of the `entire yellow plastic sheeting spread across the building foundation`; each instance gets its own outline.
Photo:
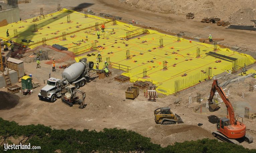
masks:
MULTIPOLYGON (((40 42, 42 38, 46 38, 47 45, 59 44, 67 47, 70 51, 96 42, 97 46, 101 46, 94 52, 96 56, 87 56, 87 53, 85 53, 83 56, 76 57, 75 60, 78 62, 82 58, 87 58, 88 61, 97 63, 96 57, 100 52, 103 60, 103 62, 99 63, 100 69, 103 68, 106 59, 110 58, 110 62, 116 63, 112 64, 112 67, 118 66, 118 64, 130 67, 129 72, 124 72, 123 75, 129 76, 131 82, 137 80, 150 81, 158 86, 158 92, 166 95, 173 94, 177 90, 175 85, 177 82, 180 82, 178 88, 184 89, 203 81, 208 76, 212 77, 225 70, 231 70, 233 66, 232 62, 225 60, 216 63, 215 61, 219 60, 218 58, 206 55, 206 53, 214 51, 213 45, 194 41, 190 43, 183 38, 177 42, 177 37, 175 36, 162 34, 150 29, 148 30, 149 34, 126 41, 124 39, 126 33, 135 34, 140 27, 118 21, 116 21, 117 25, 113 25, 113 22, 109 19, 92 15, 88 15, 85 18, 84 14, 76 11, 63 9, 62 11, 45 15, 45 19, 36 22, 32 22, 32 20, 28 19, 26 22, 20 21, 0 27, 0 34, 5 40, 9 39, 19 44, 30 45, 30 48, 42 45, 40 42), (67 23, 68 15, 70 15, 71 23, 67 23), (97 39, 95 23, 98 23, 98 28, 100 28, 104 22, 108 22, 105 24, 105 32, 100 30, 100 39, 97 39), (34 24, 37 24, 38 32, 33 32, 34 24), (9 37, 5 37, 7 28, 9 29, 9 37), (14 29, 17 29, 18 32, 18 37, 16 38, 13 38, 14 29), (67 34, 66 40, 62 40, 62 32, 74 33, 67 34), (55 38, 56 36, 59 37, 55 38), (163 39, 163 48, 159 48, 160 36, 163 39), (48 40, 51 38, 54 39, 48 40), (34 41, 34 44, 24 43, 21 41, 22 39, 34 41), (40 43, 35 44, 36 42, 40 43), (200 49, 199 58, 197 58, 198 48, 200 49), (128 60, 126 59, 127 50, 129 50, 130 54, 128 60), (153 63, 150 62, 151 60, 153 60, 153 63), (167 70, 165 71, 163 71, 163 61, 167 62, 167 70), (174 64, 176 64, 175 67, 173 66, 174 64), (211 73, 210 69, 208 69, 209 67, 212 68, 211 73), (147 70, 144 78, 143 69, 147 70), (184 73, 187 76, 182 76, 184 73)), ((251 56, 239 54, 229 49, 218 48, 216 53, 237 58, 240 60, 237 63, 239 67, 244 66, 243 61, 247 65, 255 62, 251 56)))

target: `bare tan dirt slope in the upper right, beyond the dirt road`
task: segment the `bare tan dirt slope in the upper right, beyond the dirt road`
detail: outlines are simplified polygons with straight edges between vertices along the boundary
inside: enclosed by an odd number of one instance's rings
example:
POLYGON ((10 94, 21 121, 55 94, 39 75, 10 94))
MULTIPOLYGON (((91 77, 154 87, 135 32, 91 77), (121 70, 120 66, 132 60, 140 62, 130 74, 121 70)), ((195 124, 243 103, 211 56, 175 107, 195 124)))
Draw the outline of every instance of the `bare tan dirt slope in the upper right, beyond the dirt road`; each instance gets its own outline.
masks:
POLYGON ((228 20, 231 24, 254 25, 250 20, 255 20, 255 0, 244 1, 213 1, 213 0, 120 0, 139 9, 152 12, 163 12, 185 16, 195 13, 195 18, 217 17, 228 20))

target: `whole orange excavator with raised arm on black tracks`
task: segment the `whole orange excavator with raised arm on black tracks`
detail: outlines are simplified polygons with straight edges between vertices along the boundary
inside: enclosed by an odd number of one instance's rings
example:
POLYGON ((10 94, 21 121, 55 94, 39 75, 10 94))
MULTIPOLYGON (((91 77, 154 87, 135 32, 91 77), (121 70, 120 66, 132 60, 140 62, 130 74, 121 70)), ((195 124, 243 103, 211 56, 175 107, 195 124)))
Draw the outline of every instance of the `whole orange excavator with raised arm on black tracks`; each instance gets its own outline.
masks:
POLYGON ((235 112, 232 107, 232 104, 229 101, 229 99, 226 97, 226 94, 223 91, 217 79, 213 81, 210 97, 208 99, 209 110, 210 111, 216 110, 216 109, 213 109, 214 105, 216 105, 215 103, 213 103, 213 97, 215 95, 216 90, 218 91, 219 95, 221 96, 223 102, 227 107, 228 118, 221 117, 218 119, 216 124, 217 131, 212 133, 213 136, 223 141, 235 143, 235 144, 239 144, 239 142, 236 139, 240 139, 240 140, 243 139, 248 143, 252 143, 253 138, 250 135, 246 134, 246 126, 245 124, 243 124, 243 118, 239 115, 236 115, 235 117, 235 112), (238 121, 239 117, 242 118, 242 122, 238 121))

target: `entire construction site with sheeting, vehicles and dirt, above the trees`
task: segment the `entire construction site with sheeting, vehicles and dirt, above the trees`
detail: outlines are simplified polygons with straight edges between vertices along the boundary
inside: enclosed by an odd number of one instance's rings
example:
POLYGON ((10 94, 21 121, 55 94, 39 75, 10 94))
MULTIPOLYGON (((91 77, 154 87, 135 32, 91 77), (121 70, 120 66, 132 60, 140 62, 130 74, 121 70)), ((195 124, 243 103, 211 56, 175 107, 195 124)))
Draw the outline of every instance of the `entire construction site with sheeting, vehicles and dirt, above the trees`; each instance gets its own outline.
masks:
POLYGON ((256 149, 256 6, 166 3, 1 1, 0 117, 256 149))

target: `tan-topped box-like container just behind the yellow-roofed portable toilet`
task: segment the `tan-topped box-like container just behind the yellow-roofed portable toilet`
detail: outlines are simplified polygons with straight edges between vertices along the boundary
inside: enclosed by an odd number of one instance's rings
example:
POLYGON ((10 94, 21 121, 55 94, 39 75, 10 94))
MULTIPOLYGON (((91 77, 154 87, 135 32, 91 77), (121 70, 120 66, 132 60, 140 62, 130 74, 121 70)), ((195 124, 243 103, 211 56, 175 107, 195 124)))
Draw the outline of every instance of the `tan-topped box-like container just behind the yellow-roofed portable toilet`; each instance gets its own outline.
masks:
POLYGON ((24 76, 24 62, 14 58, 7 59, 7 67, 17 72, 18 78, 24 76))

